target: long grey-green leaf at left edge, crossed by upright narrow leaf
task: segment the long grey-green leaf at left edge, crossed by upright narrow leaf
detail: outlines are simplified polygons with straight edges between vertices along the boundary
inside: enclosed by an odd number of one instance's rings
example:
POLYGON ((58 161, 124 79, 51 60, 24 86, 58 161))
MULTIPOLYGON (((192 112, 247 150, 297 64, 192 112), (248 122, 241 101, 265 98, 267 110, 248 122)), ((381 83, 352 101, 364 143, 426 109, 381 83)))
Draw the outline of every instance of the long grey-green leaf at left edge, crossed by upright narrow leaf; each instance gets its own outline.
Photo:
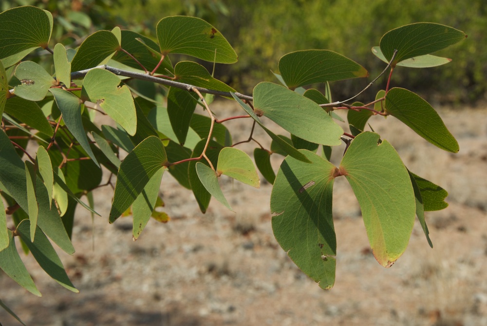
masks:
MULTIPOLYGON (((71 164, 70 164, 71 165, 71 164)), ((24 162, 15 152, 12 143, 5 133, 0 133, 0 182, 5 190, 15 199, 23 211, 29 211, 27 200, 26 173, 24 162)), ((47 191, 37 178, 36 198, 39 207, 37 225, 49 236, 59 248, 69 254, 75 252, 73 244, 64 229, 57 210, 51 210, 47 191)))

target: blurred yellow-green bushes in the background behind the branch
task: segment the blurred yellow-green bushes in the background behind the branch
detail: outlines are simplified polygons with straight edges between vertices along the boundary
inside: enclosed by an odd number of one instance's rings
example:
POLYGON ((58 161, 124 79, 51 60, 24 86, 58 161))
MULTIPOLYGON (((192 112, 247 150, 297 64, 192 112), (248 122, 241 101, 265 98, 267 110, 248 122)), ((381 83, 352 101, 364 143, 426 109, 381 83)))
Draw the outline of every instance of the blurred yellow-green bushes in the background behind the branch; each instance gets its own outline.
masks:
MULTIPOLYGON (((433 102, 486 99, 484 0, 445 0, 441 5, 430 0, 268 0, 253 1, 252 5, 244 0, 10 0, 2 1, 1 9, 25 4, 44 6, 53 12, 64 29, 55 31, 54 36, 68 32, 69 39, 64 43, 79 41, 86 30, 111 29, 114 25, 130 26, 154 38, 153 29, 162 17, 203 18, 225 34, 239 55, 236 64, 218 65, 215 77, 246 93, 259 81, 276 81, 271 71, 277 72, 282 55, 295 50, 333 50, 356 60, 371 76, 376 76, 384 63, 372 55, 371 48, 378 45, 376 40, 385 31, 419 21, 442 23, 468 35, 467 41, 446 50, 448 57, 454 58, 449 69, 401 68, 404 71, 396 74, 393 81, 407 83, 421 96, 428 94, 428 100, 433 102)), ((441 52, 438 55, 442 56, 441 52)), ((332 88, 342 98, 369 81, 336 82, 332 88)), ((381 86, 378 83, 364 96, 374 96, 381 86)))

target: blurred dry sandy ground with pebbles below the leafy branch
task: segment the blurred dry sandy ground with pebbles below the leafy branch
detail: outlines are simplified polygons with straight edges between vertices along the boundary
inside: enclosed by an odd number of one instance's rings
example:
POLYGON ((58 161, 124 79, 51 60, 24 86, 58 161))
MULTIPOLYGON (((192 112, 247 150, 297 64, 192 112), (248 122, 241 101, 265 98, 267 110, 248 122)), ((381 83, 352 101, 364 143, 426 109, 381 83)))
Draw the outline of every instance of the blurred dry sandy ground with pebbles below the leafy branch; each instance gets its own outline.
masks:
MULTIPOLYGON (((234 111, 225 105, 217 104, 215 112, 234 111)), ((90 215, 78 211, 77 251, 61 257, 79 294, 58 286, 27 256, 44 296, 0 275, 0 297, 30 326, 487 325, 487 110, 455 107, 440 115, 460 143, 458 154, 437 149, 393 117, 371 120, 412 172, 450 192, 449 208, 427 214, 434 248, 416 223, 408 249, 392 268, 379 266, 368 249, 344 178, 334 190, 336 284, 325 291, 274 239, 269 184, 253 189, 222 180, 237 213, 213 199, 203 215, 192 193, 167 173, 161 194, 172 219, 150 221, 136 242, 130 217, 108 224, 108 189, 95 196, 104 217, 95 219, 94 230, 90 215)), ((234 134, 248 136, 241 133, 248 122, 232 123, 234 134)), ((266 138, 262 132, 257 137, 266 138)), ((340 153, 343 148, 333 163, 340 153)), ((4 311, 0 321, 19 325, 4 311)))

